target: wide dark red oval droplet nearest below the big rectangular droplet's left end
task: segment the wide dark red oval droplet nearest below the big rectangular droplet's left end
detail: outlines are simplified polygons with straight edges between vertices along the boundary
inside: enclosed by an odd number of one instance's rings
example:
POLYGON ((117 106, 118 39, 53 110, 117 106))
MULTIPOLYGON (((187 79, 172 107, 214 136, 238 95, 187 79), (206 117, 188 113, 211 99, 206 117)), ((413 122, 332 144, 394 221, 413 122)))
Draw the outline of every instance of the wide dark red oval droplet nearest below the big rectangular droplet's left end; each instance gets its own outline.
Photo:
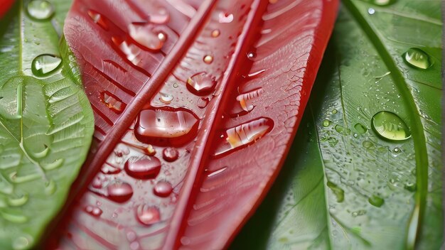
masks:
POLYGON ((133 178, 139 180, 154 179, 161 170, 161 161, 151 156, 149 158, 141 158, 136 161, 129 159, 124 166, 125 172, 133 178))

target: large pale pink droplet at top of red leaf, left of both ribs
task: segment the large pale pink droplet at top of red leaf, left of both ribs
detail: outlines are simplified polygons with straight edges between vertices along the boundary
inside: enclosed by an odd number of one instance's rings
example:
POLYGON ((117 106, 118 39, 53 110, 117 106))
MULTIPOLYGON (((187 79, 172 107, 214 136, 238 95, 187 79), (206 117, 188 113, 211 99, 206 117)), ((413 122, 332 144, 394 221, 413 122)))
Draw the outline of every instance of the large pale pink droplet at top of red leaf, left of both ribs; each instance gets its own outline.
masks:
POLYGON ((130 37, 149 50, 160 50, 163 41, 159 38, 159 32, 149 23, 131 23, 128 26, 130 37))

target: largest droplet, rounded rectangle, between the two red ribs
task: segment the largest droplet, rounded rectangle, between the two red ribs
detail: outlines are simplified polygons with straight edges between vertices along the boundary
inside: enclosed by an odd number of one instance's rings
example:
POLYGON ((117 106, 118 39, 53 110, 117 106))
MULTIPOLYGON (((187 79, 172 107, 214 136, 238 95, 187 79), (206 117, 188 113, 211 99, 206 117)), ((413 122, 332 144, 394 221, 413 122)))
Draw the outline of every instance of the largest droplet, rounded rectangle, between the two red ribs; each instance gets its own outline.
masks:
POLYGON ((178 146, 195 137, 198 124, 187 109, 145 109, 139 113, 134 135, 144 143, 178 146))

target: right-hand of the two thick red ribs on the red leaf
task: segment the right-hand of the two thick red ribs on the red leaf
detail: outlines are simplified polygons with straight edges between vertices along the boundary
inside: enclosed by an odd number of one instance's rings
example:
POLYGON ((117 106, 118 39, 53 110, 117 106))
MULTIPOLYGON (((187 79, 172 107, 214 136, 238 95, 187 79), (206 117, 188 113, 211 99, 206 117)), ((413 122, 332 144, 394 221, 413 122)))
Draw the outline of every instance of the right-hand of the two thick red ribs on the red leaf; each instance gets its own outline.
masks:
MULTIPOLYGON (((202 127, 207 128, 200 131, 198 134, 198 140, 191 153, 191 161, 188 165, 188 172, 184 180, 181 193, 178 196, 178 203, 171 217, 170 225, 166 239, 164 240, 163 249, 178 249, 181 246, 181 235, 186 229, 187 215, 193 206, 193 200, 195 200, 195 192, 199 190, 200 183, 202 183, 203 168, 208 157, 211 156, 212 143, 211 138, 215 138, 215 134, 220 124, 221 117, 223 115, 223 109, 218 107, 225 107, 231 93, 231 82, 237 78, 237 72, 242 67, 242 62, 245 62, 245 56, 248 53, 250 46, 252 45, 255 36, 257 35, 257 27, 262 22, 262 14, 267 8, 268 0, 254 0, 252 3, 252 9, 247 17, 247 21, 242 30, 240 38, 237 41, 235 53, 233 53, 230 59, 227 70, 225 70, 224 78, 221 82, 219 89, 222 90, 222 94, 218 95, 210 102, 207 107, 208 111, 216 110, 216 112, 208 112, 207 118, 203 121, 202 127)), ((217 90, 218 91, 218 90, 217 90)))

